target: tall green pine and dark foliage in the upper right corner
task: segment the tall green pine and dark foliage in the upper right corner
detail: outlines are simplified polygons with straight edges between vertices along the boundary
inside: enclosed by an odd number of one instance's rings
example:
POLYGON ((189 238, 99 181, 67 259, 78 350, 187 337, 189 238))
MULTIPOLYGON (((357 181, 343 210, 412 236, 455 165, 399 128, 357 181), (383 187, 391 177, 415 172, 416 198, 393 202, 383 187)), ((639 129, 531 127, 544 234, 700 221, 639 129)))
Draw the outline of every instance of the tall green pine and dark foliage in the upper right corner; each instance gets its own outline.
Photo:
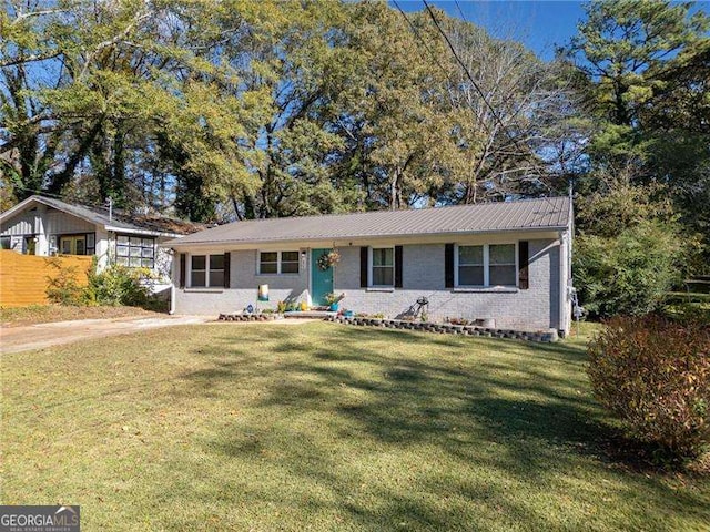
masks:
POLYGON ((578 191, 607 194, 611 190, 598 176, 627 172, 627 188, 650 186, 657 198, 662 191, 682 233, 704 235, 707 246, 710 18, 691 8, 651 0, 589 3, 566 53, 588 81, 584 92, 600 123, 587 150, 592 172, 580 176, 578 191))

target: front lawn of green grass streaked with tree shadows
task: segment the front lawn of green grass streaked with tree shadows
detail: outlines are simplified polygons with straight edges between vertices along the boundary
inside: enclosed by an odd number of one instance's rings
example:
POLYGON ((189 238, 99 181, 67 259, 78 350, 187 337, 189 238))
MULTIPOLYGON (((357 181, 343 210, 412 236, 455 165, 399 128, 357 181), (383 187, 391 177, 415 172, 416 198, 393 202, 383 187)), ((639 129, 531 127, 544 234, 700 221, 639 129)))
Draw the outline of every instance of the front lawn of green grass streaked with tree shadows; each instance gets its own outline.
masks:
POLYGON ((707 480, 609 456, 582 340, 212 324, 4 355, 1 499, 84 530, 708 530, 707 480))

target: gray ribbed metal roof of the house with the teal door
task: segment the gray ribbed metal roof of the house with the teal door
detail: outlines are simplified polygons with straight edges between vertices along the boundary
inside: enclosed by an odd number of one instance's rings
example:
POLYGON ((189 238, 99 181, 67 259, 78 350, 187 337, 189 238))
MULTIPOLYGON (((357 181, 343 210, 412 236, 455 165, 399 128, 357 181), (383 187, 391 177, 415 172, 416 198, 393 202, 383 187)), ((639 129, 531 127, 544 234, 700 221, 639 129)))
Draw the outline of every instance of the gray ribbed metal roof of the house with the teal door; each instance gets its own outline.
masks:
POLYGON ((194 244, 564 229, 571 222, 570 214, 569 197, 546 197, 408 211, 270 218, 221 225, 165 245, 183 247, 194 244))

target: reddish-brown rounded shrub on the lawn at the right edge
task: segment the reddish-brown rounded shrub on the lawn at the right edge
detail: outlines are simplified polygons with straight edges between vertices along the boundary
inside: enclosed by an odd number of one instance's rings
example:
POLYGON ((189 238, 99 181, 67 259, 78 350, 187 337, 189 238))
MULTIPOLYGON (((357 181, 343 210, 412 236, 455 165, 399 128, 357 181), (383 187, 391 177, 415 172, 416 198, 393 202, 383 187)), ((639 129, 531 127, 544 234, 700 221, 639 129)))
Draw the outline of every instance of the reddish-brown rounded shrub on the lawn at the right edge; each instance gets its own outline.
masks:
POLYGON ((629 436, 698 457, 710 443, 710 327, 657 316, 606 325, 589 345, 595 397, 629 436))

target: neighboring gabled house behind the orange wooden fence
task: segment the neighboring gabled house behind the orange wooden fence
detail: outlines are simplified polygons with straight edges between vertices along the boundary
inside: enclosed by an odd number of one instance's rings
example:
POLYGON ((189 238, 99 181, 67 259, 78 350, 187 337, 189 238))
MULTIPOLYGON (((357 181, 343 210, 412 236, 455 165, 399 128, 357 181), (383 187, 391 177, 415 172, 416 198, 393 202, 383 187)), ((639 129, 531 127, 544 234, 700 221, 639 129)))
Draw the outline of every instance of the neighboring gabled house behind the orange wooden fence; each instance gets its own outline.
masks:
POLYGON ((204 228, 34 195, 0 214, 0 247, 29 255, 95 255, 99 268, 113 263, 145 267, 169 284, 172 256, 159 244, 204 228))

